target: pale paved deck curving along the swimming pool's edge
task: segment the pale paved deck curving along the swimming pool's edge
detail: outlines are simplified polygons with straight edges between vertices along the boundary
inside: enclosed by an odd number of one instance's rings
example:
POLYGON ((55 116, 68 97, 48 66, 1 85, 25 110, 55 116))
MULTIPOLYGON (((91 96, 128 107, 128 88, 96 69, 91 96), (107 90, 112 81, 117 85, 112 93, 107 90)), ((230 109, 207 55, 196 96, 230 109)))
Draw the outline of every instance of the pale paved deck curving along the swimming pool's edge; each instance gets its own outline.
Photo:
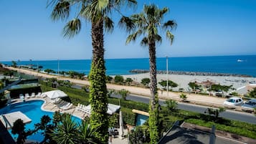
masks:
MULTIPOLYGON (((41 109, 47 112, 57 112, 60 111, 62 113, 69 113, 70 115, 73 115, 75 117, 79 117, 80 119, 84 119, 85 117, 87 117, 87 114, 85 112, 81 112, 79 110, 75 110, 75 105, 73 105, 70 109, 68 110, 61 110, 59 107, 57 107, 57 105, 54 105, 52 102, 50 102, 49 98, 42 98, 42 97, 30 97, 27 98, 26 101, 30 101, 30 100, 43 100, 44 104, 42 105, 41 109)), ((13 99, 12 103, 18 103, 18 102, 22 102, 21 99, 17 98, 17 99, 13 99)), ((119 129, 118 129, 119 131, 119 129)), ((128 134, 128 130, 124 129, 123 130, 124 135, 128 134)), ((128 138, 119 138, 119 137, 110 137, 109 140, 111 141, 111 144, 128 144, 128 138)))

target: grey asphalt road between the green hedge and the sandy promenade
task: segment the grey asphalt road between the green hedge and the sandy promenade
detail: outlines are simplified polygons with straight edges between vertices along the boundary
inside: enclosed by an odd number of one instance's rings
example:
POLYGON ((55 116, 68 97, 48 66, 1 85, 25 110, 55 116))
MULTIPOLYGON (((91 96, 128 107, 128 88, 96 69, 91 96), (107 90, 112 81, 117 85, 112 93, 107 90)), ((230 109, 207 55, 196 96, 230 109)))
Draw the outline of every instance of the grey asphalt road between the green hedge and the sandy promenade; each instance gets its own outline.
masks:
MULTIPOLYGON (((119 95, 113 95, 113 97, 120 98, 119 95)), ((126 99, 133 100, 136 102, 143 102, 143 103, 149 102, 148 97, 143 97, 143 96, 138 96, 138 95, 128 95, 126 97, 126 99)), ((159 100, 160 105, 164 105, 163 102, 164 102, 164 100, 159 100)), ((193 104, 186 104, 186 103, 178 102, 178 109, 204 113, 204 111, 207 110, 207 107, 201 106, 201 105, 193 105, 193 104)), ((237 112, 237 111, 233 111, 233 110, 226 110, 225 112, 222 112, 219 116, 227 118, 229 120, 240 120, 242 122, 252 123, 252 124, 256 125, 256 116, 252 115, 250 113, 246 113, 246 112, 237 112)))

